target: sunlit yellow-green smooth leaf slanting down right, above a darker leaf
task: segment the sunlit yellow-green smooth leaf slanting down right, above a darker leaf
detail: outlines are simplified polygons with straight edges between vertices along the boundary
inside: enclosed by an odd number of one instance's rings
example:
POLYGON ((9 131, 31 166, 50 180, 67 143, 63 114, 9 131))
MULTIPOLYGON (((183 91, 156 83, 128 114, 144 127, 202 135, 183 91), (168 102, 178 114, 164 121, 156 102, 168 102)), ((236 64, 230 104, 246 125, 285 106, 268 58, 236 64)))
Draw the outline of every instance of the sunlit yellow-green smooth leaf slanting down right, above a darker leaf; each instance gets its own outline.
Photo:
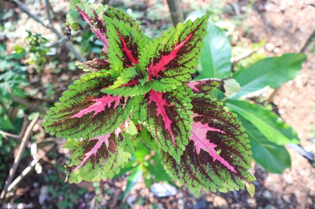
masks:
POLYGON ((275 113, 247 101, 228 100, 225 105, 253 123, 270 141, 278 145, 299 144, 296 132, 275 113))

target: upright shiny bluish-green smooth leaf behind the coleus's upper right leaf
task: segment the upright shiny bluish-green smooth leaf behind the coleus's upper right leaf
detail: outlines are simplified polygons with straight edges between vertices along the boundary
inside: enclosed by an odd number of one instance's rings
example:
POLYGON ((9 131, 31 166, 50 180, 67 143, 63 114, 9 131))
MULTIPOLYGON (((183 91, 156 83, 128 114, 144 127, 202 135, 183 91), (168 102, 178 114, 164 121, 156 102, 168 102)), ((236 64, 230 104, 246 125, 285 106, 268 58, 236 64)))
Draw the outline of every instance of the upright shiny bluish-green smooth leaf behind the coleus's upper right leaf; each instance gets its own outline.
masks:
POLYGON ((231 72, 231 44, 225 32, 208 22, 207 35, 203 39, 205 44, 199 58, 200 76, 203 78, 228 78, 231 72))

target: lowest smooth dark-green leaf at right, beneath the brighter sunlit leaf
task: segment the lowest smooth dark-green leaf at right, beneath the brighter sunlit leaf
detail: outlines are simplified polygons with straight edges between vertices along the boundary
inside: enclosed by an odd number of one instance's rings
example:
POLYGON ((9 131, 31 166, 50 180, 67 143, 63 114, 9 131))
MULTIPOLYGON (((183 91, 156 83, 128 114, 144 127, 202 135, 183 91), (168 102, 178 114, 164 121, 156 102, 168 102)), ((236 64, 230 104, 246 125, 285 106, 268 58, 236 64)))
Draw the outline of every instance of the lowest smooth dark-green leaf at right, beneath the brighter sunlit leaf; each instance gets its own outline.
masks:
POLYGON ((252 157, 257 163, 272 173, 282 173, 285 168, 291 166, 290 154, 284 146, 270 142, 255 125, 240 115, 238 118, 246 130, 253 152, 252 157))

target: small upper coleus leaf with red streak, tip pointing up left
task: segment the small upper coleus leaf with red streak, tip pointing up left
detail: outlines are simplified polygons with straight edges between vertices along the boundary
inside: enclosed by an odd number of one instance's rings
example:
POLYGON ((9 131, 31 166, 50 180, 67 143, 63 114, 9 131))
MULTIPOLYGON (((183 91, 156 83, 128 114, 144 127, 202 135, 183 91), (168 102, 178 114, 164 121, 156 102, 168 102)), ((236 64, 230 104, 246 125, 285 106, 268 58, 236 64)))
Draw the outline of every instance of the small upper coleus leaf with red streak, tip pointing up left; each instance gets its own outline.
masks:
POLYGON ((145 45, 143 37, 129 23, 104 17, 108 32, 109 63, 113 70, 122 71, 125 68, 139 64, 139 53, 145 45))

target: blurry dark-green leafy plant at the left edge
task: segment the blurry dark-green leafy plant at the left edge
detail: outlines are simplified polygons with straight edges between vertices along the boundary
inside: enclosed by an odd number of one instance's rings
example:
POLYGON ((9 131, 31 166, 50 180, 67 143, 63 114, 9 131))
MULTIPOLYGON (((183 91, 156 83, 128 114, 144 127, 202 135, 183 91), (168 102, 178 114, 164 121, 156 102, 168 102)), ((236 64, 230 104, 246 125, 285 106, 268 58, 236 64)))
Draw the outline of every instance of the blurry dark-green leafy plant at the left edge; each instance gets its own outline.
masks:
MULTIPOLYGON (((25 52, 6 55, 6 50, 6 45, 0 44, 0 130, 19 134, 23 123, 23 110, 19 104, 12 101, 12 95, 26 96, 22 90, 23 86, 28 85, 26 66, 22 66, 19 62, 25 56, 25 52)), ((11 151, 17 146, 17 142, 17 140, 9 141, 0 134, 0 177, 2 178, 4 176, 1 175, 8 169, 6 164, 11 159, 11 151)))

